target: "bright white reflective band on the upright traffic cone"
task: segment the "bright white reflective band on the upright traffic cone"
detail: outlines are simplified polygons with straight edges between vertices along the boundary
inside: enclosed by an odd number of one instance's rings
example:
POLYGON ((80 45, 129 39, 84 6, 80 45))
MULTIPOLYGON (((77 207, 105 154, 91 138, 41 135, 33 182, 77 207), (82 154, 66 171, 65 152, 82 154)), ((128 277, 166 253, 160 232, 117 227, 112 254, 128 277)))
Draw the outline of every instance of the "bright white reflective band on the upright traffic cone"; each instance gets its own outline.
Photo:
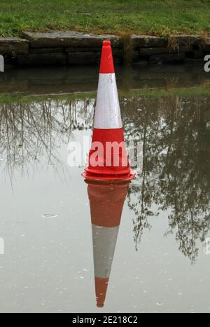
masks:
POLYGON ((94 128, 122 128, 116 74, 99 74, 94 128))

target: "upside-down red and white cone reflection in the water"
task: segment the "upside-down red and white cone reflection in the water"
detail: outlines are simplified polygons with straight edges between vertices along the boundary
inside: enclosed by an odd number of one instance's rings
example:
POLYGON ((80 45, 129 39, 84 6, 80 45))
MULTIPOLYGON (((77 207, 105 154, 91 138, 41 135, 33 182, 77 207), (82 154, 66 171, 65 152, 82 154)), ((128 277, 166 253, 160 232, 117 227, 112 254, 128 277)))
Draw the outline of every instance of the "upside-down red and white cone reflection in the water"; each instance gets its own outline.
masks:
POLYGON ((90 200, 97 307, 104 307, 123 203, 129 180, 108 184, 85 180, 90 200))

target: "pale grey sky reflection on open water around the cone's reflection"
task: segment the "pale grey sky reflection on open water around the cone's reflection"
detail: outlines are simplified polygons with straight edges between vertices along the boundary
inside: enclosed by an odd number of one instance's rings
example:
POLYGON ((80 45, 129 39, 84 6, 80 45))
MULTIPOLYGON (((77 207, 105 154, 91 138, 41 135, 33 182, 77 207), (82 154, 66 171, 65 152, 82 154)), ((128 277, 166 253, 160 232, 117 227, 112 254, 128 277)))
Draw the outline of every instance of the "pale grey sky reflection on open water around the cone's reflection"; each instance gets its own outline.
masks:
MULTIPOLYGON (((90 207, 81 172, 71 170, 68 185, 50 170, 34 178, 16 177, 13 194, 8 182, 1 184, 1 311, 99 310, 90 207), (44 219, 43 213, 57 218, 44 219)), ((160 211, 158 218, 148 219, 153 227, 144 231, 135 251, 135 216, 125 201, 102 312, 209 310, 209 256, 201 251, 190 265, 174 235, 164 236, 167 214, 160 211)))

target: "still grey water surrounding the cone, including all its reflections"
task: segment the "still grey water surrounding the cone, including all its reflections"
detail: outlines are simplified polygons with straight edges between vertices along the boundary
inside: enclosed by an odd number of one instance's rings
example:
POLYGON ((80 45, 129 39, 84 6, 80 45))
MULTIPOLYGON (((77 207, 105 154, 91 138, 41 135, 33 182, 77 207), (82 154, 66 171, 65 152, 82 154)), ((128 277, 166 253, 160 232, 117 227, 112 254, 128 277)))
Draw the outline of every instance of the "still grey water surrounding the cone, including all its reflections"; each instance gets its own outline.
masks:
POLYGON ((94 69, 1 75, 15 92, 0 105, 1 312, 210 312, 208 74, 117 72, 125 138, 144 145, 130 185, 67 164, 91 134, 94 69))

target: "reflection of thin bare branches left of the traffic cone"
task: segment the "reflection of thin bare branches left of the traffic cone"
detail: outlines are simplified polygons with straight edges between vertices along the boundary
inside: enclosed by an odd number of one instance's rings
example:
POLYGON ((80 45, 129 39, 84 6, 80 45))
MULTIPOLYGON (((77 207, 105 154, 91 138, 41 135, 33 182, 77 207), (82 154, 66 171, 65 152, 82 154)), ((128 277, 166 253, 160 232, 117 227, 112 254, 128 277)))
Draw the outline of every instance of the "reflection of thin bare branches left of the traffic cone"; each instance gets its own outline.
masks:
POLYGON ((22 167, 23 172, 27 163, 37 166, 43 156, 59 171, 62 163, 57 149, 69 141, 73 130, 89 127, 93 102, 43 100, 1 105, 0 153, 10 178, 15 168, 22 167))

